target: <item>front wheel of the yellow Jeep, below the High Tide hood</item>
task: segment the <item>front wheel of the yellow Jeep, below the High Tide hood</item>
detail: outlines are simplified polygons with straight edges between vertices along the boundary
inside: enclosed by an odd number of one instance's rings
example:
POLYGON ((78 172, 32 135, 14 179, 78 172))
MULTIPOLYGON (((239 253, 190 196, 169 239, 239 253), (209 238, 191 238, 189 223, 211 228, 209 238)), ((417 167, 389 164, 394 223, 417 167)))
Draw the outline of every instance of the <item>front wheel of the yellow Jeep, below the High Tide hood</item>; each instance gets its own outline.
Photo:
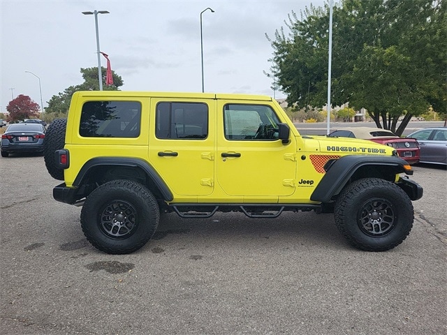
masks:
POLYGON ((386 251, 413 227, 413 204, 402 188, 377 178, 354 181, 335 202, 335 225, 356 248, 386 251))

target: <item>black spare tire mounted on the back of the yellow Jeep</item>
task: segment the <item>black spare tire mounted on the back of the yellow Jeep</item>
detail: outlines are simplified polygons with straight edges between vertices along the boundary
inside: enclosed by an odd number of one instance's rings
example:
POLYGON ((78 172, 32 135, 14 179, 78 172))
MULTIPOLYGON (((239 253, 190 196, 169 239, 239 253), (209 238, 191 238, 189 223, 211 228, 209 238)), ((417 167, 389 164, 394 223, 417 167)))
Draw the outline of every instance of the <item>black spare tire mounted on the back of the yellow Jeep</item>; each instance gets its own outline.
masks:
POLYGON ((56 167, 54 151, 64 149, 67 119, 55 119, 47 128, 45 140, 43 140, 43 158, 45 166, 51 177, 64 180, 64 170, 56 167))

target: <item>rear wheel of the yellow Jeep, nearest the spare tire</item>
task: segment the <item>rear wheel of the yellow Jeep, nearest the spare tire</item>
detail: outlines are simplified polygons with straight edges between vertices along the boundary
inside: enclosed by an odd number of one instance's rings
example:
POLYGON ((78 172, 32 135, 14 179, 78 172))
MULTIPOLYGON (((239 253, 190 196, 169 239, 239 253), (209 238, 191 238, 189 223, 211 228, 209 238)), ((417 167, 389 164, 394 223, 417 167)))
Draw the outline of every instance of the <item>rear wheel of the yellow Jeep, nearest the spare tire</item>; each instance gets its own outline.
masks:
POLYGON ((81 226, 93 246, 124 254, 144 246, 159 225, 159 205, 152 193, 129 180, 109 181, 85 200, 81 226))

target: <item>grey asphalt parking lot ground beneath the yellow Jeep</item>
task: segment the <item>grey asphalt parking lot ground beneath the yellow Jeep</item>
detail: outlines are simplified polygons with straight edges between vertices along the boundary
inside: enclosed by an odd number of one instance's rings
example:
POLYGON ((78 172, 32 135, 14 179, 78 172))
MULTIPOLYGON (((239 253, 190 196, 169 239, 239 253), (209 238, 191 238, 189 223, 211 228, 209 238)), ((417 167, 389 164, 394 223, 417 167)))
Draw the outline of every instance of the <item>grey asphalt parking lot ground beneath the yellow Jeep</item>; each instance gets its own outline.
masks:
POLYGON ((163 217, 131 255, 93 248, 41 156, 0 158, 1 334, 447 334, 447 172, 403 244, 351 248, 331 214, 163 217))

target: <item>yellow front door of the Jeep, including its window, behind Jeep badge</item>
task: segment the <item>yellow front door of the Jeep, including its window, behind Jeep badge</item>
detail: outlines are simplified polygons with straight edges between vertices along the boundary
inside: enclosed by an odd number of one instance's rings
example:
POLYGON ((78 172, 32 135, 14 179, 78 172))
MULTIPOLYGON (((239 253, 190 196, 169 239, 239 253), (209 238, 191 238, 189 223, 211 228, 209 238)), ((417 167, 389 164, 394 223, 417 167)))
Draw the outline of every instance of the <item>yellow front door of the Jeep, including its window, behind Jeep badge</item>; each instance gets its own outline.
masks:
POLYGON ((217 181, 244 201, 273 201, 295 191, 295 142, 278 139, 281 122, 268 103, 217 102, 217 181))

